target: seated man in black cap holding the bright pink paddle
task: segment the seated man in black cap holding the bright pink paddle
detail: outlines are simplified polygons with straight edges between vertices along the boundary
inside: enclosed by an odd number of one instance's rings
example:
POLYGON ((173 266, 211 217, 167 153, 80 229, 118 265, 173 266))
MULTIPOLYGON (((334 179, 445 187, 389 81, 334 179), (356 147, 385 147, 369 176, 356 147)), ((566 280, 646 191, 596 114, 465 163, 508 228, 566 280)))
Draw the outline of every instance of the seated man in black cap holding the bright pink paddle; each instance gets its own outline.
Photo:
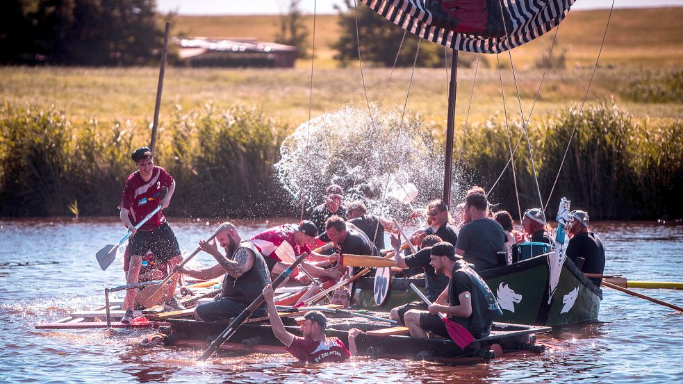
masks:
POLYGON ((455 248, 447 242, 431 247, 431 266, 434 272, 443 273, 450 280, 428 311, 413 309, 405 313, 405 323, 411 336, 427 337, 427 331, 431 331, 435 335, 449 337, 445 324, 436 315, 438 312, 467 328, 475 338, 488 336, 493 319, 501 316, 502 311, 484 280, 468 267, 462 256, 455 254, 455 248))

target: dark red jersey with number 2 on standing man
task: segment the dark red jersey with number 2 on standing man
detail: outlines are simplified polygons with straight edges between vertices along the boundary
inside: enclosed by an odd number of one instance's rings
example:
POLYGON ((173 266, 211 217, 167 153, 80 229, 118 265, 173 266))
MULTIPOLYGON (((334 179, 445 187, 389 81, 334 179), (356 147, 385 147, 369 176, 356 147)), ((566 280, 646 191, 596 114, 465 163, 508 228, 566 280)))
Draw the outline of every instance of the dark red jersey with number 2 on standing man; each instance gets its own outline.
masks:
MULTIPOLYGON (((120 207, 131 212, 129 217, 131 217, 133 225, 138 224, 140 220, 149 215, 149 212, 161 204, 161 188, 170 187, 172 183, 173 177, 162 167, 152 169, 149 181, 142 180, 140 171, 135 171, 131 176, 128 176, 126 185, 123 187, 123 199, 120 207)), ((159 228, 165 221, 166 217, 160 210, 145 224, 142 224, 140 231, 151 231, 159 228)))

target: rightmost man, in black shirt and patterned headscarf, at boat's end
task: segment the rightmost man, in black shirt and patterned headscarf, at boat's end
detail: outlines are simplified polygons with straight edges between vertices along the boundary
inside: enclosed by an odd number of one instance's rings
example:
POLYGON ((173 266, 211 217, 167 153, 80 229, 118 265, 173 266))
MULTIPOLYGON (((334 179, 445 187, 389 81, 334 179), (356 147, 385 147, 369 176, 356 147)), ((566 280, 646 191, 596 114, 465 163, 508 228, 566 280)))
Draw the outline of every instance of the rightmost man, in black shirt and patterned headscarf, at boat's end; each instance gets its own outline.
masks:
MULTIPOLYGON (((588 212, 573 210, 569 212, 567 224, 569 242, 565 254, 574 264, 587 274, 602 274, 604 272, 604 247, 598 235, 589 227, 588 212), (582 260, 583 259, 583 260, 582 260)), ((600 287, 602 278, 591 278, 600 287)))

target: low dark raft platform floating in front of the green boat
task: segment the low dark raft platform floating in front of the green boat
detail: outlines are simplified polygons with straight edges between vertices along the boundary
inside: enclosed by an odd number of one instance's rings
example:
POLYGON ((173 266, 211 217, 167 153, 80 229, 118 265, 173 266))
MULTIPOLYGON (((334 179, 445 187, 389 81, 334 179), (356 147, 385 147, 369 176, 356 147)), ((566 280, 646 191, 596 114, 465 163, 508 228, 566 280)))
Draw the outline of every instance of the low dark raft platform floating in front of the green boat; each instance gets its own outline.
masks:
MULTIPOLYGON (((290 319, 291 320, 291 319, 290 319)), ((174 345, 197 345, 197 342, 211 342, 220 334, 227 323, 197 322, 196 320, 169 319, 173 333, 168 337, 174 345)), ((290 322, 290 324, 292 324, 290 322)), ((286 326, 290 333, 301 335, 298 326, 286 326)), ((386 328, 385 325, 349 322, 329 325, 328 336, 338 337, 348 345, 348 330, 360 328, 372 331, 386 328)), ((409 335, 372 335, 361 333, 356 337, 356 347, 359 353, 383 358, 427 358, 427 359, 457 359, 463 357, 493 358, 488 351, 493 344, 500 344, 503 351, 533 351, 543 353, 543 346, 535 344, 535 333, 550 331, 548 327, 524 326, 518 324, 495 323, 491 335, 477 339, 466 348, 458 347, 452 340, 421 339, 409 335)), ((282 352, 282 344, 272 333, 270 324, 242 324, 228 340, 229 350, 237 351, 265 351, 270 346, 273 351, 282 352)))

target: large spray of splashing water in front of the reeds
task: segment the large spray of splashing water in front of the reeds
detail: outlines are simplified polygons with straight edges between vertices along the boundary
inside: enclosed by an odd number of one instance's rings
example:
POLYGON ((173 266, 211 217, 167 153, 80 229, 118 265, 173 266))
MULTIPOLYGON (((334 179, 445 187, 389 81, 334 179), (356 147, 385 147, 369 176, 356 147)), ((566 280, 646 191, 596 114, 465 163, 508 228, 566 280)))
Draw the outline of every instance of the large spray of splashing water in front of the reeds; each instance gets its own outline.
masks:
MULTIPOLYGON (((345 203, 362 199, 372 213, 406 218, 413 206, 441 198, 443 146, 415 116, 398 110, 345 107, 304 122, 287 137, 274 165, 295 203, 310 209, 324 189, 345 189, 345 203), (414 190, 418 191, 414 200, 414 190), (406 196, 407 195, 407 196, 406 196)), ((454 178, 454 190, 458 183, 454 178)))

